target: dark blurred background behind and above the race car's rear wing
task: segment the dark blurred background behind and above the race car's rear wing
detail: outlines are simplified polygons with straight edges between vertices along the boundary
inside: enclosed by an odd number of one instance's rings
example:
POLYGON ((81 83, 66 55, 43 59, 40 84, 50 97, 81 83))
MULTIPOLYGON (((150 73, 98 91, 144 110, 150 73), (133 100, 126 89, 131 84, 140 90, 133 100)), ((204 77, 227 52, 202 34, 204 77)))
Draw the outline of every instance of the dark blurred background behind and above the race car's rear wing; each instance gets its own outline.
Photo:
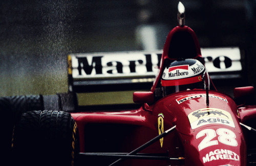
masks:
MULTIPOLYGON (((0 2, 0 96, 66 92, 70 53, 143 50, 141 25, 158 28, 158 49, 177 26, 179 1, 0 2), (162 37, 163 36, 163 37, 162 37)), ((255 1, 181 1, 202 48, 240 46, 254 85, 255 1)), ((245 80, 247 81, 247 80, 245 80)))

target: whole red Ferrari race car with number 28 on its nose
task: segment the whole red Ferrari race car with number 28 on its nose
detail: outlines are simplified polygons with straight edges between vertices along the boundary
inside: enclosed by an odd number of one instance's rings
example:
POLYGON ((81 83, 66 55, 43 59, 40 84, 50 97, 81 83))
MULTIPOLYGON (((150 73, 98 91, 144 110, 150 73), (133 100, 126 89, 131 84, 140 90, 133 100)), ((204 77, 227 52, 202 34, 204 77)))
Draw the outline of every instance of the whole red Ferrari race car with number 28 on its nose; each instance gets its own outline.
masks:
POLYGON ((1 98, 2 117, 10 117, 1 125, 3 161, 256 164, 254 88, 234 88, 232 97, 213 84, 243 76, 240 49, 201 50, 181 3, 178 11, 163 50, 71 54, 68 93, 1 98))

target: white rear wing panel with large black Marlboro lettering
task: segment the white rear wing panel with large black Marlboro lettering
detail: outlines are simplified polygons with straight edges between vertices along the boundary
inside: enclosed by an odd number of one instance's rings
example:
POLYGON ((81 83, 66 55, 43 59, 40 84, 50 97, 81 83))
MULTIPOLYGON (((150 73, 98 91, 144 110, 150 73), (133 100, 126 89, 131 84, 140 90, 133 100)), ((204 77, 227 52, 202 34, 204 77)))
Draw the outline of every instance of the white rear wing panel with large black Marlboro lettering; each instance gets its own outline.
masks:
MULTIPOLYGON (((236 72, 242 70, 239 48, 201 49, 205 67, 211 72, 236 72)), ((155 77, 162 50, 153 52, 121 52, 97 54, 72 54, 74 79, 112 77, 155 77)))

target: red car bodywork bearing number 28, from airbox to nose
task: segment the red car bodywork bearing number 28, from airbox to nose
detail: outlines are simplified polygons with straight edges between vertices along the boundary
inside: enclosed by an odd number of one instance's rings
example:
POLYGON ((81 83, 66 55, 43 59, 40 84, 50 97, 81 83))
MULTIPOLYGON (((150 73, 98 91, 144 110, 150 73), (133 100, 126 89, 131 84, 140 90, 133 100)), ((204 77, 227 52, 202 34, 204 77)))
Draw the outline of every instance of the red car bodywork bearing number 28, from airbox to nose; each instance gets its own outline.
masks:
MULTIPOLYGON (((186 26, 176 27, 168 34, 151 92, 134 95, 135 101, 143 103, 139 109, 72 113, 79 130, 80 152, 129 153, 158 136, 162 129, 176 125, 174 131, 139 153, 181 157, 182 162, 126 159, 118 165, 246 165, 247 131, 242 130, 240 122, 246 124, 256 116, 255 106, 239 108, 210 82, 206 82, 211 87, 208 106, 206 90, 201 89, 154 97, 155 90, 161 87, 164 60, 179 56, 203 60, 198 39, 186 26)), ((109 165, 115 160, 95 159, 91 163, 109 165)))

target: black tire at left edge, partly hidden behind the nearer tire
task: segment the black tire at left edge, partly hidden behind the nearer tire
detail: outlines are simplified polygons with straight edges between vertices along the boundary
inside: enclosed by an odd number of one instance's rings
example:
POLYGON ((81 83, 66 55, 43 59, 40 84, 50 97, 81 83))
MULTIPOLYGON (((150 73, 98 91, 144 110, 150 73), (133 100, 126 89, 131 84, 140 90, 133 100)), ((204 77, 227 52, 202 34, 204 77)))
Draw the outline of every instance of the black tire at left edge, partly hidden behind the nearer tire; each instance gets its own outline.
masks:
POLYGON ((0 98, 0 131, 2 133, 1 152, 5 161, 11 160, 12 134, 15 122, 19 119, 20 114, 30 110, 42 110, 44 104, 42 97, 37 95, 31 96, 12 96, 0 98))

